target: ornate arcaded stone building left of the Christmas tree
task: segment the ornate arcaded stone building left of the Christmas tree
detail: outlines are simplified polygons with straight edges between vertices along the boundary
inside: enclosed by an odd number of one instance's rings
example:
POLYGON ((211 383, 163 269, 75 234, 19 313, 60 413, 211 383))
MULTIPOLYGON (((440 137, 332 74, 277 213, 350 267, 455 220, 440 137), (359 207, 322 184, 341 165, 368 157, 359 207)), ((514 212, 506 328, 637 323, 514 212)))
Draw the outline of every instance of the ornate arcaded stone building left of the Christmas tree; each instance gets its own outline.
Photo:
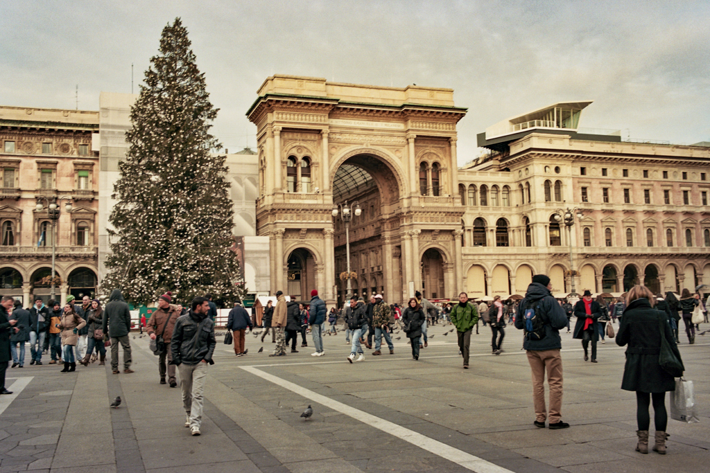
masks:
POLYGON ((50 298, 53 241, 56 296, 96 290, 98 129, 96 111, 0 107, 0 293, 25 306, 50 298))

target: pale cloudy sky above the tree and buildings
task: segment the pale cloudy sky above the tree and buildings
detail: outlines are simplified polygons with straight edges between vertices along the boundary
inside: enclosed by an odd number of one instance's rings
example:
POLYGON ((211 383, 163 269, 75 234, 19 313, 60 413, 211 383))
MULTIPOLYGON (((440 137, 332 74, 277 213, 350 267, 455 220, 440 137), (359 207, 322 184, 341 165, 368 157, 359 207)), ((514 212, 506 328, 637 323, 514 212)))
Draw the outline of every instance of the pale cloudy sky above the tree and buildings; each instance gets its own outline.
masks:
POLYGON ((459 165, 486 127, 559 101, 594 100, 584 128, 710 141, 710 1, 2 0, 0 105, 137 93, 178 16, 231 152, 256 148, 245 113, 273 74, 454 89, 459 165))

